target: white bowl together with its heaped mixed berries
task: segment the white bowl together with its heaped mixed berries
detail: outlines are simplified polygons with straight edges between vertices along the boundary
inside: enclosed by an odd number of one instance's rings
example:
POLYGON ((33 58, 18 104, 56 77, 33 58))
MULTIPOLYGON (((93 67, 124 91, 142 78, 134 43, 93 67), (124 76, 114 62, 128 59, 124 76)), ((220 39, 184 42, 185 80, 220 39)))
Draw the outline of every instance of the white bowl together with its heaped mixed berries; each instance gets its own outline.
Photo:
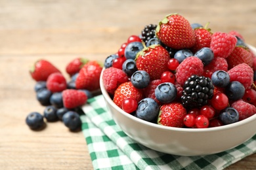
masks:
POLYGON ((256 50, 238 31, 213 33, 208 26, 170 14, 105 59, 102 95, 138 143, 200 156, 256 134, 256 50))

